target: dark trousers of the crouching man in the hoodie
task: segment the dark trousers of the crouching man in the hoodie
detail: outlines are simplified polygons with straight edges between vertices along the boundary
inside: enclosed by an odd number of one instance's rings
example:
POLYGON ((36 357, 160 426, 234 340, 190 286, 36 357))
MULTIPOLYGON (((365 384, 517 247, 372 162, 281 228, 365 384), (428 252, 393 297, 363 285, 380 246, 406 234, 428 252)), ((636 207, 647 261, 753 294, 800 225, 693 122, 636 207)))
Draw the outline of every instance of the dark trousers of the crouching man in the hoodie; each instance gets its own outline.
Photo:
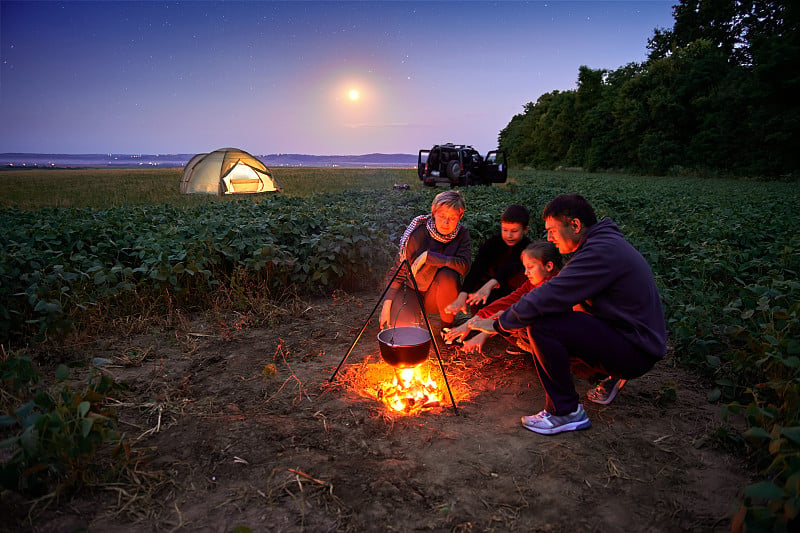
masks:
POLYGON ((631 379, 657 360, 607 322, 578 311, 538 317, 527 334, 546 395, 545 409, 552 415, 566 415, 578 407, 573 372, 587 378, 594 373, 631 379))

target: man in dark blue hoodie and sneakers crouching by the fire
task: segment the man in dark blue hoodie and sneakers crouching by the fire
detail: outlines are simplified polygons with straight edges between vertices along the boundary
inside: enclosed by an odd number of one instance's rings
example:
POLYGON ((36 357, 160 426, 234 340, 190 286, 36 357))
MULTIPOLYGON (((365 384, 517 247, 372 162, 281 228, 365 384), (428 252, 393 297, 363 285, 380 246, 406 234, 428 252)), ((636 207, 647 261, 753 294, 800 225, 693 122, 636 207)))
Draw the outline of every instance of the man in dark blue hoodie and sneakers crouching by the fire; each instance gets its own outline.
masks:
POLYGON ((609 376, 588 395, 608 404, 625 380, 643 375, 666 355, 667 332, 650 265, 613 220, 598 222, 579 194, 557 196, 542 218, 547 239, 573 256, 557 276, 500 315, 493 328, 501 335, 522 334, 532 346, 545 408, 523 416, 522 425, 551 435, 591 425, 571 364, 609 376))

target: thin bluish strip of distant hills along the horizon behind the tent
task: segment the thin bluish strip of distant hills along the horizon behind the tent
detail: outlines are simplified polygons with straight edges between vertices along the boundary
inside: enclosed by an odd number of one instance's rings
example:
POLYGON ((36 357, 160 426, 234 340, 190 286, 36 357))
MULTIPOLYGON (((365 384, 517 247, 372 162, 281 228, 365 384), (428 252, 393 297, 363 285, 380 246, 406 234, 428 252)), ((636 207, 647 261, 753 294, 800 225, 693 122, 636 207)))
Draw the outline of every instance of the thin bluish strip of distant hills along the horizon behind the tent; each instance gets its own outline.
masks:
MULTIPOLYGON (((0 153, 2 168, 183 167, 195 154, 29 154, 0 153)), ((412 154, 253 154, 268 167, 413 167, 412 154)))

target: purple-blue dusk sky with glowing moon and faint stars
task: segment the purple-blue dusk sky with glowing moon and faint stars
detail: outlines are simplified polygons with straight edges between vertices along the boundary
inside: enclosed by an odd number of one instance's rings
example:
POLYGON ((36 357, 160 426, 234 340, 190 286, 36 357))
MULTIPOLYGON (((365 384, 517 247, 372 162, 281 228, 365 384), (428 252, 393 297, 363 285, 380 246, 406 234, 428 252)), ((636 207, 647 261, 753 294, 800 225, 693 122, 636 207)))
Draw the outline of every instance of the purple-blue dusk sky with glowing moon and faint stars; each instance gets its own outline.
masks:
POLYGON ((0 152, 485 153, 674 3, 2 0, 0 152))

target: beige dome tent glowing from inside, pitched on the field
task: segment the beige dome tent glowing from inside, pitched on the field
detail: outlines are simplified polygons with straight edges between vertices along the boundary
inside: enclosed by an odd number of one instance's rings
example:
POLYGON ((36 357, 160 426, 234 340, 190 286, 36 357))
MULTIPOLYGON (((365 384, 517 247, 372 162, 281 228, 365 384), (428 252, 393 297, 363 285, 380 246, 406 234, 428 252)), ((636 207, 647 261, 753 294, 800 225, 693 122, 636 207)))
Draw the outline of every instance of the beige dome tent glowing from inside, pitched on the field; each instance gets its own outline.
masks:
POLYGON ((183 167, 183 194, 241 194, 281 191, 272 172, 244 150, 220 148, 197 154, 183 167))

